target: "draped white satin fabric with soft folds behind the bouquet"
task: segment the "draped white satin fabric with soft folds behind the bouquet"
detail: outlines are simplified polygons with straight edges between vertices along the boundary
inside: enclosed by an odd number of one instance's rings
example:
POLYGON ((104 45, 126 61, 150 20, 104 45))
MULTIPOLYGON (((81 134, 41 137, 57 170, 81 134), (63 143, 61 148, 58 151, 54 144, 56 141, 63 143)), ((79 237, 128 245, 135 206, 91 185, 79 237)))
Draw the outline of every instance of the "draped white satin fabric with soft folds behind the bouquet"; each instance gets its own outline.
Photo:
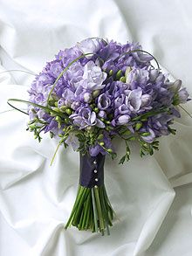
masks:
MULTIPOLYGON (((87 37, 140 41, 192 94, 192 4, 189 0, 1 0, 1 72, 38 73, 59 49, 87 37)), ((187 256, 192 254, 192 120, 182 112, 177 134, 143 159, 106 157, 105 182, 118 219, 110 237, 67 231, 79 181, 79 155, 41 143, 25 131, 28 116, 7 111, 9 98, 27 99, 33 77, 0 73, 1 256, 187 256)), ((24 107, 24 106, 22 106, 24 107)), ((192 113, 192 103, 185 106, 192 113)), ((118 154, 124 145, 116 142, 118 154)))

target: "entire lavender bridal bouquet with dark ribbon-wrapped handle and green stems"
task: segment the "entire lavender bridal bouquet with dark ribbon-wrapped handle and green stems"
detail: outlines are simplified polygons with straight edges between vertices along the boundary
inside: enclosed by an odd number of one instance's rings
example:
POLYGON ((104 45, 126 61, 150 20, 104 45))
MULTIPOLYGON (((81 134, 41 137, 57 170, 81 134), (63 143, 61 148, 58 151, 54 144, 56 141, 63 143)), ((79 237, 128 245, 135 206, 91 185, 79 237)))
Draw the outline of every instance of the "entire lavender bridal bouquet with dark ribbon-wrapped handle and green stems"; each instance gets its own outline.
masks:
POLYGON ((58 147, 79 151, 79 189, 65 229, 109 234, 114 212, 104 163, 106 155, 117 156, 113 138, 125 142, 120 163, 129 160, 131 141, 139 143, 141 156, 153 155, 161 135, 175 134, 171 125, 189 93, 181 80, 168 80, 138 43, 87 38, 47 62, 29 95, 30 100, 9 103, 28 104, 27 129, 35 138, 40 142, 43 132, 50 133, 59 138, 58 147))

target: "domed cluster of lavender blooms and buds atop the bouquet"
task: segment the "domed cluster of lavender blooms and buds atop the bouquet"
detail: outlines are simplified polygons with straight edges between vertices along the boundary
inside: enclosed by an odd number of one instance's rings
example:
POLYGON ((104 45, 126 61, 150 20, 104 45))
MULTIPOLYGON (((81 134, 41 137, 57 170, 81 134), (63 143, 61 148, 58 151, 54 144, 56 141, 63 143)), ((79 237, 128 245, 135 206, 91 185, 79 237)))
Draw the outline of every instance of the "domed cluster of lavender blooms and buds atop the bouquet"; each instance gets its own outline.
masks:
POLYGON ((175 133, 170 125, 180 117, 176 106, 186 103, 189 93, 181 80, 170 82, 168 74, 151 66, 152 56, 141 51, 138 43, 99 38, 59 51, 31 84, 30 101, 45 107, 29 106, 31 130, 38 134, 42 125, 44 132, 65 136, 74 149, 79 149, 74 134, 85 134, 86 150, 97 156, 111 153, 113 137, 126 129, 126 135, 140 138, 141 156, 144 149, 151 154, 157 138, 175 133), (98 134, 104 135, 101 144, 98 134))

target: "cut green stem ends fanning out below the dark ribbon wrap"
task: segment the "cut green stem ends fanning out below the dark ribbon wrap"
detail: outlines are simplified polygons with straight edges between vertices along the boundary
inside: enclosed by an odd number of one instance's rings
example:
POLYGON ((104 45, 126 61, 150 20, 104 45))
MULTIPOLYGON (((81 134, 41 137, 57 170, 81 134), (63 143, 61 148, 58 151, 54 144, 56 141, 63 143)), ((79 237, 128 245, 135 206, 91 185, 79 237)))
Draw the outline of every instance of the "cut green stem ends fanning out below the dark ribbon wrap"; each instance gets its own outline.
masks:
POLYGON ((78 194, 72 208, 71 216, 65 225, 76 226, 79 231, 91 230, 102 235, 110 235, 114 211, 106 194, 105 185, 87 188, 79 184, 78 194))

